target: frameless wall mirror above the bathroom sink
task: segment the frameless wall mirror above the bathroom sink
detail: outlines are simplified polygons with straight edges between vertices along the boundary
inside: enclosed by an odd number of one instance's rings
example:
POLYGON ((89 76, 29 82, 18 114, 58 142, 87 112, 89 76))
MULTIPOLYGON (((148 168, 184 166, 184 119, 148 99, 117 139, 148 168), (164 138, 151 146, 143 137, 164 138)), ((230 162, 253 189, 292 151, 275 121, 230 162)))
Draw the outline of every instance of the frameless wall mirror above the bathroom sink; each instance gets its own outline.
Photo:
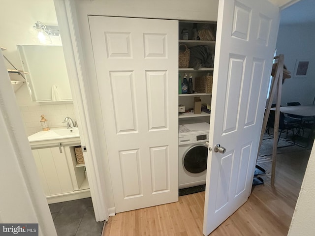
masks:
POLYGON ((62 46, 17 45, 32 101, 72 101, 62 46))

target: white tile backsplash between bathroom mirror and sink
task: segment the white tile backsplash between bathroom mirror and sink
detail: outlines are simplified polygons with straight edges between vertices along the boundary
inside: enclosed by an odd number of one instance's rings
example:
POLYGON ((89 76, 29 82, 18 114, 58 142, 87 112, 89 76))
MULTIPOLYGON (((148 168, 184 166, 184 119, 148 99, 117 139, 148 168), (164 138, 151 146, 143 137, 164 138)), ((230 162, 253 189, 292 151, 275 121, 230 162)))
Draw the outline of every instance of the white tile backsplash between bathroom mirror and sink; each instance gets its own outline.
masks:
POLYGON ((73 104, 20 106, 21 117, 28 136, 42 131, 40 116, 45 115, 50 128, 67 127, 64 118, 76 120, 73 104))

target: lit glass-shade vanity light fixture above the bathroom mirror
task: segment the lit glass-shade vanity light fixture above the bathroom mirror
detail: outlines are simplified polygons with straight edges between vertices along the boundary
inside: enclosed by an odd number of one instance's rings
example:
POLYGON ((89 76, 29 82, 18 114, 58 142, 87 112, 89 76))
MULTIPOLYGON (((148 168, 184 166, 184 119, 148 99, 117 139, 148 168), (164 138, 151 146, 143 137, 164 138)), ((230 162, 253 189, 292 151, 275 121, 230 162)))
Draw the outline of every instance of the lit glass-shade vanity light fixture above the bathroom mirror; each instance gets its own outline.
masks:
POLYGON ((34 40, 41 44, 51 44, 51 36, 59 36, 59 27, 58 26, 46 26, 40 21, 35 23, 33 28, 36 31, 36 38, 34 40))

